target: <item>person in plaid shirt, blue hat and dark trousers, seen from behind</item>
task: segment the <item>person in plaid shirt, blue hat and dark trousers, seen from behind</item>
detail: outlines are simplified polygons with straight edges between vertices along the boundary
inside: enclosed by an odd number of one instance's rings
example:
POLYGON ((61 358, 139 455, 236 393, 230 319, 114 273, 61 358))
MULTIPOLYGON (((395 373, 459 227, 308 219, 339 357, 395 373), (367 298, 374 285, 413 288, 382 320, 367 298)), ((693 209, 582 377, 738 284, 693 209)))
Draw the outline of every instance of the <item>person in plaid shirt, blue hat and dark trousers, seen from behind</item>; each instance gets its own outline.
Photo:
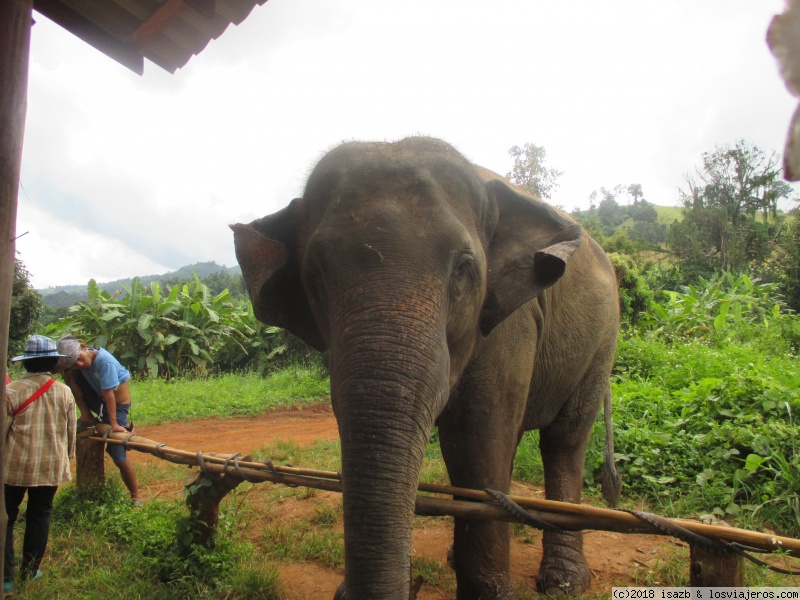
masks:
POLYGON ((69 387, 53 379, 62 355, 54 340, 34 335, 22 361, 27 374, 6 386, 5 500, 8 513, 3 592, 14 589, 14 523, 28 494, 22 544, 23 581, 42 576, 42 562, 50 535, 50 514, 58 486, 72 479, 69 461, 75 456, 75 398, 69 387))

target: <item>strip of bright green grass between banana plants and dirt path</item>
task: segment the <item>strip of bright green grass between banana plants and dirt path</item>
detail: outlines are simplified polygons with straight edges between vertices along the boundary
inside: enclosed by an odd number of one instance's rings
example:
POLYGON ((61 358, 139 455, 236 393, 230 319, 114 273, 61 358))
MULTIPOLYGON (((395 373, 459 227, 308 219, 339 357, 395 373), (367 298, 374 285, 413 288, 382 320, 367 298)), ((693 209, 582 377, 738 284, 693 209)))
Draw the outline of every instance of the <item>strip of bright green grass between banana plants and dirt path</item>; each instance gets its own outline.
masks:
POLYGON ((269 377, 254 373, 209 378, 135 380, 131 417, 158 425, 210 417, 244 417, 279 406, 302 406, 329 398, 330 381, 316 369, 292 367, 269 377))

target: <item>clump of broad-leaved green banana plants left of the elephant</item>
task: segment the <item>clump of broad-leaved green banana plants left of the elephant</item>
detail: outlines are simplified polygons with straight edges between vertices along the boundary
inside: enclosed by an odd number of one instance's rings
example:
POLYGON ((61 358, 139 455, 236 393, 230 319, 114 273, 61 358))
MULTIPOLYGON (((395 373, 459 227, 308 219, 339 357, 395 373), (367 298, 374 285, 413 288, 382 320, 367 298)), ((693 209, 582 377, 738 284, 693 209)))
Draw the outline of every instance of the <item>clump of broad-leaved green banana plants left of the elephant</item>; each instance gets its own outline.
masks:
POLYGON ((104 347, 132 372, 148 377, 260 370, 287 349, 287 334, 257 321, 249 302, 235 302, 225 289, 212 294, 195 275, 167 290, 138 278, 114 294, 88 284, 88 302, 48 326, 54 337, 74 333, 104 347))

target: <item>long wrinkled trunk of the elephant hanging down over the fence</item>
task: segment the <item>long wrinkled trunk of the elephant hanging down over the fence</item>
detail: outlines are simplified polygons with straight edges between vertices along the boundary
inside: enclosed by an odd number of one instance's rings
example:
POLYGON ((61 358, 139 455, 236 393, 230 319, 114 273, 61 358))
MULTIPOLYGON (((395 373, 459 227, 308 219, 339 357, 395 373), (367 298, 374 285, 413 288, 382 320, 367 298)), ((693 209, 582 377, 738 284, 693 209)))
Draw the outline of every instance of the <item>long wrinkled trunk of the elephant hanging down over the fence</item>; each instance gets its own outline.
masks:
POLYGON ((447 397, 446 343, 435 334, 441 319, 426 316, 430 306, 378 312, 340 320, 331 345, 348 600, 409 597, 419 471, 447 397))

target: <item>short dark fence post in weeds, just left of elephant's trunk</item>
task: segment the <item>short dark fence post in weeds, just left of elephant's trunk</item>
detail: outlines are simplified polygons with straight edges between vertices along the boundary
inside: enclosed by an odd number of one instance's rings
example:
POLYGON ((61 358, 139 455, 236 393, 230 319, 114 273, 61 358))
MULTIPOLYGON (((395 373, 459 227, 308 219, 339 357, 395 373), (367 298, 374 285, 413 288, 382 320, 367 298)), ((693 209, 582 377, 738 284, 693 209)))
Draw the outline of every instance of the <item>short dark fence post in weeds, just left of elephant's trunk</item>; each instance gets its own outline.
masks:
MULTIPOLYGON (((227 458, 227 455, 210 454, 227 458)), ((242 456, 243 461, 249 461, 249 456, 242 456)), ((242 482, 239 477, 229 474, 213 473, 211 471, 192 471, 183 478, 183 487, 188 494, 186 505, 192 515, 192 543, 201 544, 207 548, 214 545, 214 533, 219 524, 219 503, 228 494, 236 489, 242 482)))

